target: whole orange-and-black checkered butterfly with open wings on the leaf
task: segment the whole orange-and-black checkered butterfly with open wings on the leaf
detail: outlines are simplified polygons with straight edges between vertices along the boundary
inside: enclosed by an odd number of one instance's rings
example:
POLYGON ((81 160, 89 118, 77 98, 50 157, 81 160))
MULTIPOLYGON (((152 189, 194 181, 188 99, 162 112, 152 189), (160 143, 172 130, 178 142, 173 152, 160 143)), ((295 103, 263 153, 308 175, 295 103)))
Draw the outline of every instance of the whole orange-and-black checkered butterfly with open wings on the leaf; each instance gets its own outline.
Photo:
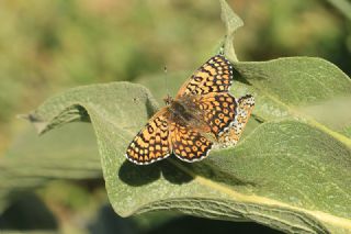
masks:
POLYGON ((148 121, 126 149, 126 158, 147 165, 174 154, 193 163, 205 158, 215 144, 235 145, 242 133, 254 99, 229 93, 233 66, 223 55, 202 65, 174 99, 148 121))

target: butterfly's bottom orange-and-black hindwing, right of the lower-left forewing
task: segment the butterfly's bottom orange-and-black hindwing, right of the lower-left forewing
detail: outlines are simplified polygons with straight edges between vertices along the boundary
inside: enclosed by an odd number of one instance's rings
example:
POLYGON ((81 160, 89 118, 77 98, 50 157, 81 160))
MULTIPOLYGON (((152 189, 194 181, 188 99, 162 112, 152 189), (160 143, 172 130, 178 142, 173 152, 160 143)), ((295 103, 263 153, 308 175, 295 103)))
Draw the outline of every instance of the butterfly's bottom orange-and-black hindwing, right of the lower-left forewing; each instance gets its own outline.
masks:
POLYGON ((213 146, 213 143, 197 131, 176 122, 170 124, 170 142, 173 154, 189 163, 205 158, 213 146))

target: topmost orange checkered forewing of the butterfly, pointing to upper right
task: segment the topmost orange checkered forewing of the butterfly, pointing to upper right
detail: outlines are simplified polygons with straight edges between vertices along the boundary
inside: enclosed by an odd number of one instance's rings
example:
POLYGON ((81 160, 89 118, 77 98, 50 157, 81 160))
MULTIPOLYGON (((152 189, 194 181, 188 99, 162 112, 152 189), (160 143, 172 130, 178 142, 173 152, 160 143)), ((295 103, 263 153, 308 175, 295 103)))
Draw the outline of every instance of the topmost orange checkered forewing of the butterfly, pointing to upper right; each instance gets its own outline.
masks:
POLYGON ((201 66, 182 86, 176 98, 186 94, 227 92, 233 81, 233 66, 222 55, 216 55, 201 66))

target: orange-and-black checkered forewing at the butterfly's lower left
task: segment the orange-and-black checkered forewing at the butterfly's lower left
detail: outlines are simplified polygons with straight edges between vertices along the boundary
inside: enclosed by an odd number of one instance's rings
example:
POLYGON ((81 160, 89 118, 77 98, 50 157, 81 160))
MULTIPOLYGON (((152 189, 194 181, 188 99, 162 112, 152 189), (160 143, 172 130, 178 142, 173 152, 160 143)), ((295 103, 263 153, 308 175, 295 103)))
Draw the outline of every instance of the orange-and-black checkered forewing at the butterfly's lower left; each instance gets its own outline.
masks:
POLYGON ((135 164, 151 164, 170 155, 167 110, 158 111, 135 136, 126 151, 126 157, 135 164))

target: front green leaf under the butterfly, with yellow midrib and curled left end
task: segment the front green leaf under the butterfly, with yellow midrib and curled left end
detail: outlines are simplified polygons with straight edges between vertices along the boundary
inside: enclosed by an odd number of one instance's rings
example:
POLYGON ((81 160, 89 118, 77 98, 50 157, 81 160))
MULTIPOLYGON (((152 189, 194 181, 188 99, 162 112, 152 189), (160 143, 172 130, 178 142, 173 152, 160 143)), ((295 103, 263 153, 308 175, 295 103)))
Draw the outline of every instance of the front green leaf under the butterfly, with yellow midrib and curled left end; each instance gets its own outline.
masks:
POLYGON ((351 229, 350 148, 322 131, 295 120, 264 123, 236 148, 215 151, 201 163, 170 158, 137 166, 124 153, 154 111, 145 88, 115 82, 72 89, 46 101, 32 120, 42 120, 45 131, 52 120, 66 123, 77 107, 93 124, 109 198, 120 215, 177 210, 287 232, 351 229))

